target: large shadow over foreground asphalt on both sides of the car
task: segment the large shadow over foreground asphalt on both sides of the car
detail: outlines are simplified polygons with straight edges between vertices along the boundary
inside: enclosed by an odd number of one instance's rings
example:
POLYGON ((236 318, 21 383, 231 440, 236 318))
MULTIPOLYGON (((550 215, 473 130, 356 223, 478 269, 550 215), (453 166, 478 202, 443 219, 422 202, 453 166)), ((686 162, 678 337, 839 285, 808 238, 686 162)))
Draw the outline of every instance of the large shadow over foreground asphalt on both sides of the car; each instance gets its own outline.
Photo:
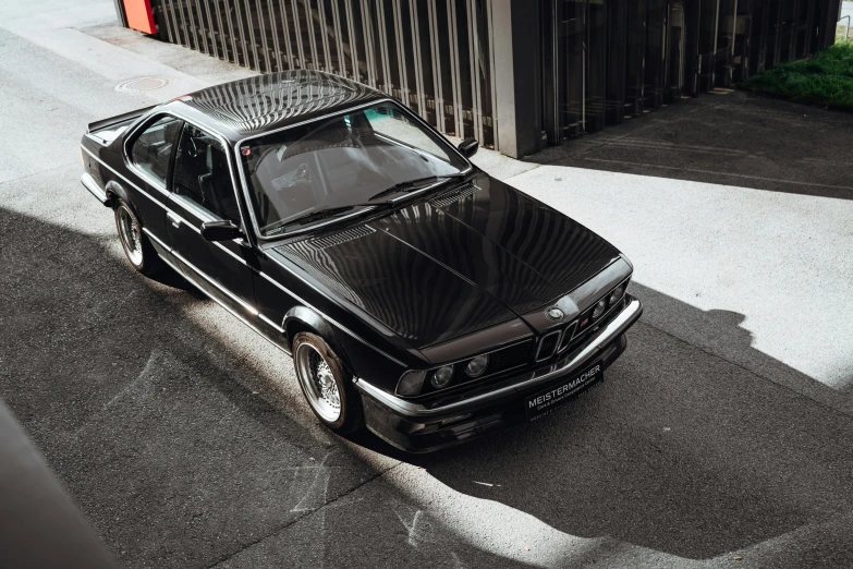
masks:
MULTIPOLYGON (((524 566, 461 540, 401 488, 366 485, 376 465, 318 427, 295 383, 282 387, 287 365, 255 367, 229 342, 241 324, 195 324, 184 312, 210 301, 136 275, 102 238, 0 209, 0 395, 121 565, 208 566, 245 549, 226 566, 310 567, 317 559, 300 556, 321 546, 327 565, 524 566), (333 513, 306 518, 300 534, 301 517, 330 501, 333 513)), ((853 501, 850 417, 799 395, 820 386, 754 350, 742 315, 632 287, 646 316, 626 353, 547 420, 424 457, 354 440, 590 540, 564 552, 566 566, 767 543, 790 567, 838 566, 849 532, 833 517, 848 523, 853 501), (655 313, 720 340, 687 343, 655 327, 655 313), (748 370, 784 372, 793 387, 748 370), (829 560, 797 541, 816 535, 829 560)))

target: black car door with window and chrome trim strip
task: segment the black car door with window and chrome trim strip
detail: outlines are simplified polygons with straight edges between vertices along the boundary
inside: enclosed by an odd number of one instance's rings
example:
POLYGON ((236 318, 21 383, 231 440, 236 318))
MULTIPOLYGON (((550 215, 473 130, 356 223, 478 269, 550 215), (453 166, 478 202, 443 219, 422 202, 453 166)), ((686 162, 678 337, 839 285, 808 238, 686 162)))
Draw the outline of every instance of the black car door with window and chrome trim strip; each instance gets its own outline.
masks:
POLYGON ((206 221, 230 220, 244 227, 224 145, 185 122, 178 138, 170 190, 166 227, 181 270, 241 316, 256 316, 246 242, 210 242, 202 237, 206 221))

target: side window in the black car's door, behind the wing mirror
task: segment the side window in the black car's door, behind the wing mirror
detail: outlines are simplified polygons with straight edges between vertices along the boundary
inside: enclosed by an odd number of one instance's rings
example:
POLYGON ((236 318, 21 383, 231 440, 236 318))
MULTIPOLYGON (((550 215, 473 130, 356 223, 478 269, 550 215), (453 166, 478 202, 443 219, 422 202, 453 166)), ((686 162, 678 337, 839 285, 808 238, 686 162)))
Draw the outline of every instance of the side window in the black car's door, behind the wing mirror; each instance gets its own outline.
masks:
POLYGON ((241 225, 224 148, 212 135, 188 123, 178 142, 172 192, 220 219, 241 225))

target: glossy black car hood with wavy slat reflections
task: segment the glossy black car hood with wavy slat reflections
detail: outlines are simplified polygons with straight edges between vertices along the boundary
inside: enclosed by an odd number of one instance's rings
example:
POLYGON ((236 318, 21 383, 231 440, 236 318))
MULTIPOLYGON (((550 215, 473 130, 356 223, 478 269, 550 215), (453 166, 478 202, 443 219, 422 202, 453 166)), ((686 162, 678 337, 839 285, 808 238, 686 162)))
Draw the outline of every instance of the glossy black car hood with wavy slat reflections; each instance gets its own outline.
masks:
POLYGON ((523 318, 619 257, 573 219, 486 174, 275 251, 418 349, 523 318))

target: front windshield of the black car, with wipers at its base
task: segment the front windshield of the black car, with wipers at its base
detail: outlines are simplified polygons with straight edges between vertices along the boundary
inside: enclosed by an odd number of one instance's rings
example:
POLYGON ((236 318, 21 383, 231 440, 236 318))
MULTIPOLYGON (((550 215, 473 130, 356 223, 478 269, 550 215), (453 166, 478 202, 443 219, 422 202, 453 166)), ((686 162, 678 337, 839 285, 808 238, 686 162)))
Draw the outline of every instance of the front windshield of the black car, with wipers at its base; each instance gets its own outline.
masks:
POLYGON ((468 167, 448 142, 393 102, 253 138, 240 154, 261 237, 411 190, 405 182, 468 167))

